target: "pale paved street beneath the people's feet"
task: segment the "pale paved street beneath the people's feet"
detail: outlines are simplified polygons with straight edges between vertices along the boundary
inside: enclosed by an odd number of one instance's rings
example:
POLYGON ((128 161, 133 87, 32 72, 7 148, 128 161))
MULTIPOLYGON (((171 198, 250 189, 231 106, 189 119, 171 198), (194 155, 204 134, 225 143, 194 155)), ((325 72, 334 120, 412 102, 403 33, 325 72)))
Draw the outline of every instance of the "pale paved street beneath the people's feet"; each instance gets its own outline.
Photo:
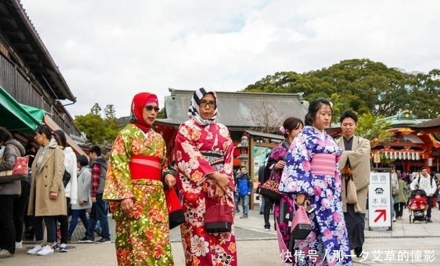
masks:
MULTIPOLYGON (((240 266, 276 265, 283 266, 278 254, 276 233, 263 230, 263 215, 250 210, 248 219, 236 215, 238 260, 240 266)), ((272 217, 271 217, 272 219, 272 217)), ((432 210, 433 223, 410 224, 408 211, 404 210, 404 220, 393 223, 393 231, 365 231, 364 258, 353 258, 354 265, 439 265, 440 264, 440 210, 432 210)), ((114 223, 109 218, 114 239, 114 223)), ((25 243, 17 250, 14 258, 0 260, 0 265, 116 265, 115 250, 112 244, 83 244, 76 242, 83 237, 84 228, 78 224, 70 250, 67 253, 55 252, 50 256, 26 254, 31 243, 25 243)), ((173 254, 176 266, 184 265, 183 250, 178 228, 171 232, 173 254)))

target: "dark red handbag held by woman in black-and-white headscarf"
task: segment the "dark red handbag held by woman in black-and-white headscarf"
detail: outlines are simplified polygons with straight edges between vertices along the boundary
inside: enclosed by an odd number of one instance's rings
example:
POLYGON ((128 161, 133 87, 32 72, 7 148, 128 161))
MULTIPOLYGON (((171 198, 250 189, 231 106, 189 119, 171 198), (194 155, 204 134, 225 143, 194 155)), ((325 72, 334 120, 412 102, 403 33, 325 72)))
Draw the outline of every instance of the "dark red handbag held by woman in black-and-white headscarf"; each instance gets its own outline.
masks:
POLYGON ((231 232, 232 209, 220 203, 220 199, 206 199, 205 229, 209 233, 231 232), (208 205, 209 204, 209 205, 208 205))

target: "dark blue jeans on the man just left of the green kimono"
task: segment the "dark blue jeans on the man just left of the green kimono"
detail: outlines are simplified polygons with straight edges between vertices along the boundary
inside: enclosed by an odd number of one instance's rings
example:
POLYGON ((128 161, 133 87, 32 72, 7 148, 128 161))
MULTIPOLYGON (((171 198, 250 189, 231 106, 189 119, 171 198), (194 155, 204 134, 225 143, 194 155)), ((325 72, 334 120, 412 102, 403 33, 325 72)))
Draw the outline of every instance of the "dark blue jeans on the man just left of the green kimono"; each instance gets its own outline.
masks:
POLYGON ((94 239, 96 221, 99 221, 102 228, 102 237, 110 239, 109 221, 107 220, 107 202, 102 200, 102 193, 96 195, 96 202, 91 205, 89 214, 89 227, 87 227, 87 239, 94 239))

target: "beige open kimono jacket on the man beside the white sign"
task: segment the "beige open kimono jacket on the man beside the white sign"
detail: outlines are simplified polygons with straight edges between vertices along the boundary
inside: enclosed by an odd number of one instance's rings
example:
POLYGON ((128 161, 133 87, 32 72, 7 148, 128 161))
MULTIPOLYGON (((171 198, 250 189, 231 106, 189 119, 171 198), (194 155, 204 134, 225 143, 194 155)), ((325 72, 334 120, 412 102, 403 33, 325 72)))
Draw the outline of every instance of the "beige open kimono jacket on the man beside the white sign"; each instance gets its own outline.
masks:
MULTIPOLYGON (((340 137, 339 146, 342 148, 342 156, 339 161, 339 168, 342 170, 347 159, 350 161, 353 170, 353 181, 356 186, 356 194, 358 195, 358 203, 355 205, 355 212, 366 212, 366 197, 369 192, 370 184, 370 141, 363 137, 353 136, 353 144, 351 151, 345 151, 344 140, 340 137)), ((345 191, 345 181, 342 180, 342 191, 345 191)), ((347 212, 347 199, 345 192, 342 192, 342 210, 347 212)))

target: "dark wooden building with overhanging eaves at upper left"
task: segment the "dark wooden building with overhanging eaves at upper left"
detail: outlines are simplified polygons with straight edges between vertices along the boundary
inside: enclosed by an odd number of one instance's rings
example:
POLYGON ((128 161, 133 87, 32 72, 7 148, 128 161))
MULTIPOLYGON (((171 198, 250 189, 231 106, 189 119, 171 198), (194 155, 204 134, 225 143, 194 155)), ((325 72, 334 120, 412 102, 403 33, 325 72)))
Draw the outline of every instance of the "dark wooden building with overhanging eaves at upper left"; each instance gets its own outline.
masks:
POLYGON ((0 94, 0 126, 22 142, 45 123, 63 129, 68 144, 84 154, 70 137, 81 133, 62 102, 74 104, 76 98, 19 0, 0 1, 0 94))

